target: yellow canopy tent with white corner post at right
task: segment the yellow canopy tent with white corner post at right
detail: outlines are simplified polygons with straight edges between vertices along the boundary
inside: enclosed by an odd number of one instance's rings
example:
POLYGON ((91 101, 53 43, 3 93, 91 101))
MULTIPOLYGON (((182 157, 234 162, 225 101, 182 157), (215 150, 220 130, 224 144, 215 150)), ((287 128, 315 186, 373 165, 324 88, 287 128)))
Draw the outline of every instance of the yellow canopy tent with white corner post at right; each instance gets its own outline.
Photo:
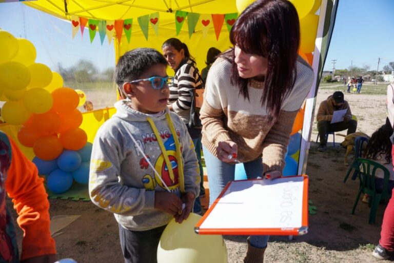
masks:
MULTIPOLYGON (((297 0, 291 1, 294 2, 297 0)), ((298 2, 314 3, 313 0, 298 2)), ((200 68, 204 66, 206 51, 209 47, 213 46, 222 51, 230 47, 228 29, 226 26, 223 26, 220 30, 220 35, 218 35, 219 31, 216 29, 215 32, 215 29, 211 27, 208 30, 208 34, 204 35, 202 27, 197 26, 189 39, 188 27, 187 25, 183 25, 182 30, 177 36, 174 13, 180 10, 209 15, 237 12, 234 0, 123 0, 117 2, 109 0, 38 0, 26 2, 25 4, 69 21, 72 20, 73 15, 91 19, 102 19, 103 21, 133 18, 130 42, 128 42, 126 35, 122 36, 121 41, 117 41, 115 37, 116 57, 136 47, 152 47, 161 50, 161 45, 167 38, 178 37, 188 45, 191 54, 196 58, 200 68), (144 31, 140 29, 138 17, 150 15, 154 12, 160 13, 159 34, 156 35, 155 31, 150 28, 149 33, 144 35, 144 31)), ((298 174, 305 173, 306 170, 316 95, 334 26, 337 7, 338 0, 322 0, 320 11, 318 12, 319 23, 316 41, 314 41, 313 61, 311 63, 316 77, 305 104, 302 140, 300 142, 298 158, 298 174)), ((308 33, 304 31, 304 35, 308 33)), ((314 32, 310 33, 314 34, 314 32)), ((84 114, 84 123, 85 119, 84 114)), ((94 137, 94 134, 95 131, 92 131, 92 135, 89 136, 94 137)))

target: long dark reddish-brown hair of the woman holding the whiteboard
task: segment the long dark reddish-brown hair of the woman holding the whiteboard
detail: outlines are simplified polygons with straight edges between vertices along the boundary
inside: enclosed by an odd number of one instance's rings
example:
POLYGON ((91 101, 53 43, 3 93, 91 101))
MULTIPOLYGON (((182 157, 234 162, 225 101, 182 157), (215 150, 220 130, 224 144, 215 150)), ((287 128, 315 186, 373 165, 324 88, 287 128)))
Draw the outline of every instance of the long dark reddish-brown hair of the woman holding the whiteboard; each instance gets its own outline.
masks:
MULTIPOLYGON (((297 10, 287 0, 257 0, 238 17, 231 29, 230 41, 246 53, 268 59, 261 104, 267 108, 270 122, 275 122, 297 77, 295 62, 300 45, 297 10)), ((239 76, 234 49, 223 57, 232 63, 231 83, 249 99, 249 79, 239 76)))

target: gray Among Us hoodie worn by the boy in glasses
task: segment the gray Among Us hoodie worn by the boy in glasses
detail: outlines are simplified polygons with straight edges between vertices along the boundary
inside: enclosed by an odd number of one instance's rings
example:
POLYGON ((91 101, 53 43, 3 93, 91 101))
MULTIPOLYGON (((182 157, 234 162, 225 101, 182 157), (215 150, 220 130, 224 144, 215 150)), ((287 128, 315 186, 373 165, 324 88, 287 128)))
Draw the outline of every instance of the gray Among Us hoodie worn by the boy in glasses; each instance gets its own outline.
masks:
POLYGON ((100 127, 94 138, 89 176, 90 197, 95 205, 114 213, 117 222, 126 229, 145 231, 164 226, 173 215, 154 209, 154 193, 167 190, 137 145, 171 192, 180 196, 184 179, 185 191, 198 196, 199 165, 186 125, 168 109, 160 116, 152 116, 133 110, 126 100, 116 102, 115 108, 115 115, 100 127), (167 114, 170 114, 179 138, 183 160, 176 157, 174 136, 166 120, 167 114), (164 155, 147 121, 148 117, 160 134, 173 176, 167 169, 164 155), (182 167, 179 161, 183 161, 183 177, 178 169, 182 167))

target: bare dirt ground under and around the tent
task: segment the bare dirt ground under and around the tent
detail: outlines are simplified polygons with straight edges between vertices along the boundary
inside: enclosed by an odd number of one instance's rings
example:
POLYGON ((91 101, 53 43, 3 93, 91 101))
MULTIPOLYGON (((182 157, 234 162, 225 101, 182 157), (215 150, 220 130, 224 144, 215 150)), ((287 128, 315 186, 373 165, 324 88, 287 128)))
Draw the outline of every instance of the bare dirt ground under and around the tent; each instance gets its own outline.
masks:
MULTIPOLYGON (((321 90, 320 102, 336 89, 321 90)), ((359 131, 371 134, 385 122, 385 95, 345 95, 353 114, 359 118, 359 131)), ((317 111, 317 110, 316 110, 317 111)), ((316 117, 315 117, 316 118, 316 117)), ((368 224, 369 208, 359 202, 356 214, 351 208, 356 198, 358 181, 343 178, 345 150, 343 138, 337 136, 335 147, 328 144, 326 152, 316 150, 316 123, 313 126, 307 174, 309 199, 317 213, 309 216, 309 233, 289 240, 287 236, 272 236, 265 262, 378 262, 371 251, 378 244, 385 205, 380 205, 375 225, 368 224)), ((332 136, 329 137, 329 142, 332 136)), ((121 263, 118 227, 112 214, 87 201, 50 200, 51 216, 81 215, 56 236, 59 258, 71 257, 78 263, 121 263)), ((18 233, 21 240, 21 232, 18 233)), ((245 236, 226 236, 228 262, 243 262, 246 252, 245 236)))

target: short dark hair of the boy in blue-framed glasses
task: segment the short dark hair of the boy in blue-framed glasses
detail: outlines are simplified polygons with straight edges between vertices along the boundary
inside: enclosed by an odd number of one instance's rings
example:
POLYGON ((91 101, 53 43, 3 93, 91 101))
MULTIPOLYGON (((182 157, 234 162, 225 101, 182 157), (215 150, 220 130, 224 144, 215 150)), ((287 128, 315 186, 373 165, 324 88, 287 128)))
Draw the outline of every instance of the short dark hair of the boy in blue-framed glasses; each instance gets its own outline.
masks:
POLYGON ((117 60, 115 68, 115 83, 122 87, 123 83, 139 79, 151 66, 168 63, 164 56, 153 48, 136 48, 124 53, 117 60))

